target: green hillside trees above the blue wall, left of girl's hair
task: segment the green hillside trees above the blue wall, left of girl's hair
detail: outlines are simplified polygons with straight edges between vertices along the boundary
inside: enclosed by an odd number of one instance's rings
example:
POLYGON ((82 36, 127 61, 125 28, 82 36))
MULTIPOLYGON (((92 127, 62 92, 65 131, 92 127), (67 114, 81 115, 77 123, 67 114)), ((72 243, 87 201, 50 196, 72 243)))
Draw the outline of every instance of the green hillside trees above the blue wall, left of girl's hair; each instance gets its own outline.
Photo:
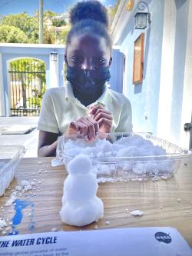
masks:
MULTIPOLYGON (((47 10, 44 12, 44 43, 55 44, 57 42, 65 44, 70 26, 66 24, 65 19, 54 18, 55 12, 47 10), (48 22, 52 21, 55 27, 65 26, 65 30, 54 32, 53 28, 48 29, 48 22), (46 25, 47 24, 47 25, 46 25)), ((0 42, 18 42, 18 43, 38 43, 38 10, 34 16, 27 12, 0 16, 0 42)))

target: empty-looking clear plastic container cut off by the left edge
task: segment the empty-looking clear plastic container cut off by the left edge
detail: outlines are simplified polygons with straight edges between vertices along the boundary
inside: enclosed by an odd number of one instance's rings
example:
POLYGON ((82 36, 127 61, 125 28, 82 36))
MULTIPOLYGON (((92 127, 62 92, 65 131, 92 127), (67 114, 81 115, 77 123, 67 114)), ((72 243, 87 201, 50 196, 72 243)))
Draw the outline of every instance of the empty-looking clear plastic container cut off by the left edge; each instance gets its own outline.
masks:
POLYGON ((12 182, 24 152, 22 145, 0 146, 0 196, 12 182))

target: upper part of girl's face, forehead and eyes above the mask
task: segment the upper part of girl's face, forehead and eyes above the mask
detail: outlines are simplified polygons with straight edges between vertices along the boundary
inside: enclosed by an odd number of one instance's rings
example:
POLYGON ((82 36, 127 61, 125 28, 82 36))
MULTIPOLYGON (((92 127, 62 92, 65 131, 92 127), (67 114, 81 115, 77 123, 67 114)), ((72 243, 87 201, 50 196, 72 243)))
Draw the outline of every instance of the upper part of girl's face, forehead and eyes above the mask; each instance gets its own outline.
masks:
POLYGON ((78 35, 68 44, 65 62, 70 67, 97 69, 111 65, 111 49, 104 38, 95 35, 78 35))

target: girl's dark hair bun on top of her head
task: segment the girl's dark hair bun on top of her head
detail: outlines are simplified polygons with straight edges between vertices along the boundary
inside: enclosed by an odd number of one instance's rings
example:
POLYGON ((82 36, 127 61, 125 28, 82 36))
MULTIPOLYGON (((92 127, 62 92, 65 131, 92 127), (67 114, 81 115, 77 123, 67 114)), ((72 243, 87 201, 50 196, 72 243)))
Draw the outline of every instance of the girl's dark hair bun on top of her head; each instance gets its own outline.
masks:
POLYGON ((108 12, 101 2, 96 0, 88 0, 78 2, 70 12, 71 25, 81 22, 84 19, 92 19, 101 22, 104 27, 108 28, 108 12))

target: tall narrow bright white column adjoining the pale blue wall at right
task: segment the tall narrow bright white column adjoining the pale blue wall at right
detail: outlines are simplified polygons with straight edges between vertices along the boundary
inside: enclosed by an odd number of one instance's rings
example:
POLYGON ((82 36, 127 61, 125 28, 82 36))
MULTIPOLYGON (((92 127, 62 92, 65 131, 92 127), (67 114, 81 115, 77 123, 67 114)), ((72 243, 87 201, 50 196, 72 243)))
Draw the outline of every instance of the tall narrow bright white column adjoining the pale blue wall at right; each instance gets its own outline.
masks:
POLYGON ((170 117, 174 81, 174 43, 177 9, 174 0, 164 1, 164 28, 161 55, 161 80, 157 136, 170 141, 170 117))

